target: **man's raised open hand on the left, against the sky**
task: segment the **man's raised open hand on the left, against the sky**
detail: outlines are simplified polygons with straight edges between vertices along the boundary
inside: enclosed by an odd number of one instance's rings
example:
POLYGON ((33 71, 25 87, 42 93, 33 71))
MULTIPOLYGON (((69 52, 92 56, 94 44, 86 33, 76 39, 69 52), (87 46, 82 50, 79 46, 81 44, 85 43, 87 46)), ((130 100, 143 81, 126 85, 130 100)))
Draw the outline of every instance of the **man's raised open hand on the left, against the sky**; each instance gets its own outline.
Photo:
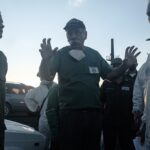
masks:
POLYGON ((51 41, 50 38, 47 40, 46 40, 46 38, 44 38, 42 40, 41 49, 39 49, 39 52, 41 53, 41 56, 43 59, 46 59, 48 57, 55 55, 58 50, 58 47, 52 49, 50 41, 51 41))

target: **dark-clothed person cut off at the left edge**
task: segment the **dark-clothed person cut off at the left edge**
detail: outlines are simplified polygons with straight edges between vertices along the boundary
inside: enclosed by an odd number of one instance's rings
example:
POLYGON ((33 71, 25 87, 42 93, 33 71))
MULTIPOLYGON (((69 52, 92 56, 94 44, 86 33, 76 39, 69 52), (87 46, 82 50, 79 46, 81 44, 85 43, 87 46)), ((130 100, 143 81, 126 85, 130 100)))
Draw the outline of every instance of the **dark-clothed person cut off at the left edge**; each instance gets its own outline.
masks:
MULTIPOLYGON (((0 13, 0 38, 3 33, 3 19, 0 13)), ((5 102, 5 76, 7 73, 7 59, 0 51, 0 150, 4 150, 5 124, 4 124, 4 102, 5 102)))

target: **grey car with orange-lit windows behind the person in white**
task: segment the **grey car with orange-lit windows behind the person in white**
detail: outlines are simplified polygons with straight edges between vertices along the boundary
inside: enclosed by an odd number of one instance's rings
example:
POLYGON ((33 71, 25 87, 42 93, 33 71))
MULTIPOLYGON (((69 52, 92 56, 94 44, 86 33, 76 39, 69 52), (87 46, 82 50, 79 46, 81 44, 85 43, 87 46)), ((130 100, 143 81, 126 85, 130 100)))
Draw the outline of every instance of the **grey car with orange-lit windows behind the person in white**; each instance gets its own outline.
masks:
POLYGON ((23 83, 6 82, 5 116, 14 112, 28 112, 24 96, 34 87, 23 83))

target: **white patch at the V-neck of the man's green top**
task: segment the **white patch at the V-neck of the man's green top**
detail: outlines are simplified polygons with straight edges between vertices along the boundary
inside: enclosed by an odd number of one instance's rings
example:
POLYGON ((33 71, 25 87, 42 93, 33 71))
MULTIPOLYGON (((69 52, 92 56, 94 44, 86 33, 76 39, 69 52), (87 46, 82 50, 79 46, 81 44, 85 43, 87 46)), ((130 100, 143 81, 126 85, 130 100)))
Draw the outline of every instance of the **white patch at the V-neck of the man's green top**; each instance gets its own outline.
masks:
POLYGON ((82 50, 77 50, 77 49, 73 49, 69 51, 69 55, 78 61, 82 60, 85 57, 84 52, 82 50))

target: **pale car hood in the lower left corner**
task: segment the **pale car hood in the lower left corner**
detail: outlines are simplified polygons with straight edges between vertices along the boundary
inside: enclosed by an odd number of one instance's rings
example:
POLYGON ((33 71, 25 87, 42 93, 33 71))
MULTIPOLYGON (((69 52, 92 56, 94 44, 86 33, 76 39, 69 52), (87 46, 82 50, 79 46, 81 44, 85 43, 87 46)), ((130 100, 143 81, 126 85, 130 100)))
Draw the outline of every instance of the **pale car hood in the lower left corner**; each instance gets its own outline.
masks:
POLYGON ((45 136, 33 128, 5 120, 5 150, 43 150, 45 136))

